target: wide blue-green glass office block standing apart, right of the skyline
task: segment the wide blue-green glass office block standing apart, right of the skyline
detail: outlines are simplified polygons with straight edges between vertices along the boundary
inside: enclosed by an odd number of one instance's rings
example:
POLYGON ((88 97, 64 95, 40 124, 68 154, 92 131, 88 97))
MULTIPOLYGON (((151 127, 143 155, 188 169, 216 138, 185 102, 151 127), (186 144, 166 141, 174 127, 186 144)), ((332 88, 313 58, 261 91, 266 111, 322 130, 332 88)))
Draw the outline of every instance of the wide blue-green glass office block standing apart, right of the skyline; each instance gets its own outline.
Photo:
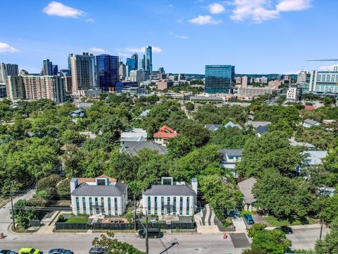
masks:
POLYGON ((231 93, 234 84, 234 66, 231 65, 206 65, 207 93, 231 93))

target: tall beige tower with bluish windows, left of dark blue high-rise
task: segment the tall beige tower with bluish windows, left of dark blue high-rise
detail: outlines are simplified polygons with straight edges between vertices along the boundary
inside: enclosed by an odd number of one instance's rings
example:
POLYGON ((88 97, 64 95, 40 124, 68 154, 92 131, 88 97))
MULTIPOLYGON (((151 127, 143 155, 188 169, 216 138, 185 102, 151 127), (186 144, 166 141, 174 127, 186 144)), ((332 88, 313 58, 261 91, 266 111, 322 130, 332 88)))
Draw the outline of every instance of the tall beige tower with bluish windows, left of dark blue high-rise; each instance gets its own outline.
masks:
POLYGON ((70 56, 73 92, 89 90, 95 84, 95 56, 87 52, 70 56))

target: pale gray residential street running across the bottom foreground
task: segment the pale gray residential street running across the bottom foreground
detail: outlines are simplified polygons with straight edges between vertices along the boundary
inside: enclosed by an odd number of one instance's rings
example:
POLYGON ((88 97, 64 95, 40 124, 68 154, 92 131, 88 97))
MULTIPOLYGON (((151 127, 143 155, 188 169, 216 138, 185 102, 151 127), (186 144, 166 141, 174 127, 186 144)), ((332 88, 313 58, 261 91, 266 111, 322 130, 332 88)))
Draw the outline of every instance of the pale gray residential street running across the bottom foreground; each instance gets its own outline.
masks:
MULTIPOLYGON (((295 229, 294 234, 288 235, 292 240, 293 248, 313 248, 315 240, 319 237, 320 229, 295 229)), ((323 231, 325 236, 326 229, 323 231)), ((19 250, 23 246, 40 248, 46 253, 51 248, 69 248, 74 253, 88 253, 91 248, 92 240, 100 234, 10 234, 6 238, 0 240, 1 248, 19 250)), ((238 234, 239 235, 239 234, 238 234)), ((165 234, 161 239, 150 239, 150 253, 160 253, 170 243, 177 240, 180 244, 174 246, 168 253, 242 253, 242 248, 234 248, 241 246, 240 239, 242 236, 236 237, 236 243, 231 237, 223 239, 222 234, 165 234), (239 239, 239 241, 238 241, 239 239)), ((145 250, 145 241, 136 236, 136 234, 116 234, 120 241, 126 241, 139 248, 145 250)), ((244 243, 244 241, 243 241, 244 243)), ((244 243, 245 244, 245 243, 244 243)))

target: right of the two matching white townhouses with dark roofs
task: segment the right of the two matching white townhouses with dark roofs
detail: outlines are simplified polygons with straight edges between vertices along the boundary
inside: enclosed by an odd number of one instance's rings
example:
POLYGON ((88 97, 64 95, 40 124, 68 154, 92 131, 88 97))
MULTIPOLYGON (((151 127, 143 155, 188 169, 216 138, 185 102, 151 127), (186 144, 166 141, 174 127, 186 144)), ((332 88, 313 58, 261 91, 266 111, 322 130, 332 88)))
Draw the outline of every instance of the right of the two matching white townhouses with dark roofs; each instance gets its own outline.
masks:
POLYGON ((196 211, 197 186, 196 178, 190 185, 184 181, 175 182, 173 177, 162 177, 160 183, 142 193, 143 213, 192 216, 196 211))

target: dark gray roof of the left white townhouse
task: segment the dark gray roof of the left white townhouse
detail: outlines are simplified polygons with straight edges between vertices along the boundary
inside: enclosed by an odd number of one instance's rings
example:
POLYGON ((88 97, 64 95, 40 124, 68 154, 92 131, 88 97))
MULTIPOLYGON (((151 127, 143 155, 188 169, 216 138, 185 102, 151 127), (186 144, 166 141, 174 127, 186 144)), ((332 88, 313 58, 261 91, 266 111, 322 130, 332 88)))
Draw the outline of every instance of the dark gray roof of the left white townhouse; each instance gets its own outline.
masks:
POLYGON ((92 196, 92 197, 120 197, 123 196, 127 185, 125 183, 115 183, 114 186, 89 186, 82 183, 72 192, 73 196, 92 196))

